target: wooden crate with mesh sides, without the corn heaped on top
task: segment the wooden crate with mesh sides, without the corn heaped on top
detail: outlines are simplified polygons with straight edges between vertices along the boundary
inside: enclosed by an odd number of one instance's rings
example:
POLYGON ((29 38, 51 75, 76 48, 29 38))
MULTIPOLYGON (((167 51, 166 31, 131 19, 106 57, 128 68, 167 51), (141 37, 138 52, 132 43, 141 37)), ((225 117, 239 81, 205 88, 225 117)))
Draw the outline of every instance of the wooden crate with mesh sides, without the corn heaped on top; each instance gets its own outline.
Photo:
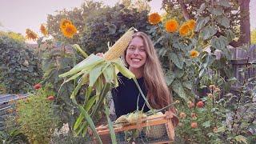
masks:
MULTIPOLYGON (((178 118, 172 112, 166 112, 165 114, 155 116, 154 118, 142 118, 140 122, 132 125, 129 123, 122 123, 122 125, 114 123, 114 132, 118 143, 125 144, 131 143, 126 141, 126 136, 131 131, 138 131, 138 138, 134 140, 134 143, 171 143, 174 142, 174 127, 178 123, 178 118), (154 134, 158 134, 155 136, 154 134)), ((98 126, 98 134, 100 135, 102 142, 111 143, 110 130, 108 126, 98 126)), ((97 140, 94 138, 94 142, 97 140)))

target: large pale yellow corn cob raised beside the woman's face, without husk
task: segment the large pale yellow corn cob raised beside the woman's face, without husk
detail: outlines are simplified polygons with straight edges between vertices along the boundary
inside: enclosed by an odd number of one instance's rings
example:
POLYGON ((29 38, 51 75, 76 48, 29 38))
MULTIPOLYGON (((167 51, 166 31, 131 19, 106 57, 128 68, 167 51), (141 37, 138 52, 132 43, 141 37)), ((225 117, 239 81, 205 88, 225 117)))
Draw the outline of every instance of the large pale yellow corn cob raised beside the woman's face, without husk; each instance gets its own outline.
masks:
POLYGON ((123 34, 122 37, 119 38, 113 46, 111 46, 110 50, 108 50, 104 54, 104 58, 107 61, 114 60, 122 55, 122 53, 126 50, 127 46, 129 45, 130 40, 132 39, 134 30, 136 29, 134 29, 133 27, 127 30, 126 33, 123 34))

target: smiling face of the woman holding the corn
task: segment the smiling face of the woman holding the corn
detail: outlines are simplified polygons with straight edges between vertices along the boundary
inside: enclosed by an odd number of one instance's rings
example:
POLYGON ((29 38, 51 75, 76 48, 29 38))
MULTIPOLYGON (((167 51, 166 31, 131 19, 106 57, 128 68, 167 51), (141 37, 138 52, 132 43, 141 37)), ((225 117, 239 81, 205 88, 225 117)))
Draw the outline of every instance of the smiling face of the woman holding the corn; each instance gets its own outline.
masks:
POLYGON ((146 62, 146 47, 142 38, 134 37, 131 40, 126 50, 126 62, 129 65, 129 70, 142 73, 146 62))

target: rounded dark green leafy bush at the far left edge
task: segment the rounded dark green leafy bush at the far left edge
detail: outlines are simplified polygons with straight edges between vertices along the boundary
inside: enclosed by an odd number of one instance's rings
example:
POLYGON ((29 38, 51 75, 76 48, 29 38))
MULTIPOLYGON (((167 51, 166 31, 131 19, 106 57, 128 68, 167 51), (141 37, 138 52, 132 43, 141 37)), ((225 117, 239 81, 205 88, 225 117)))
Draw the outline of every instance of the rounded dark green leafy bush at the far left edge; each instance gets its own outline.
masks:
POLYGON ((34 50, 19 41, 6 35, 0 36, 0 82, 10 94, 26 93, 42 78, 34 50))

